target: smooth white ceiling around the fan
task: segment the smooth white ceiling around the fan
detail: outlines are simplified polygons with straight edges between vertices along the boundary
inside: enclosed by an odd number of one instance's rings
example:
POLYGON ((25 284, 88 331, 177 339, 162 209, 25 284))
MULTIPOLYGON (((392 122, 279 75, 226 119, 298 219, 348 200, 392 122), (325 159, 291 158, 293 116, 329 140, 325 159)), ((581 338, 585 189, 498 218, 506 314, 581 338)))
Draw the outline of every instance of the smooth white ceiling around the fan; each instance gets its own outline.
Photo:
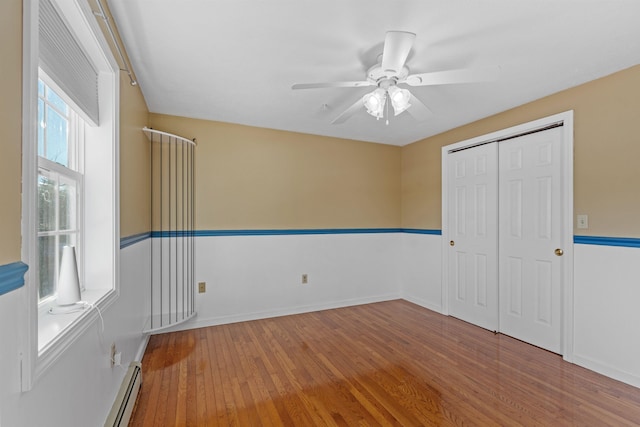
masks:
POLYGON ((637 0, 108 0, 151 112, 406 145, 640 63, 637 0), (363 109, 385 33, 417 37, 411 73, 500 67, 497 81, 409 88, 434 113, 363 109))

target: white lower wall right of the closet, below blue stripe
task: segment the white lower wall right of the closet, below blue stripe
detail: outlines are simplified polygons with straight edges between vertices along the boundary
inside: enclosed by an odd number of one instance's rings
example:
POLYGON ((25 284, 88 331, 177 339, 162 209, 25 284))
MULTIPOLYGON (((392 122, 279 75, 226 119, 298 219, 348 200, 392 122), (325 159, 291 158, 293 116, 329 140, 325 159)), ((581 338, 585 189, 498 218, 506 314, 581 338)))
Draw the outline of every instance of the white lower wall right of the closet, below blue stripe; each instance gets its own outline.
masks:
POLYGON ((640 387, 640 248, 574 246, 574 363, 640 387))

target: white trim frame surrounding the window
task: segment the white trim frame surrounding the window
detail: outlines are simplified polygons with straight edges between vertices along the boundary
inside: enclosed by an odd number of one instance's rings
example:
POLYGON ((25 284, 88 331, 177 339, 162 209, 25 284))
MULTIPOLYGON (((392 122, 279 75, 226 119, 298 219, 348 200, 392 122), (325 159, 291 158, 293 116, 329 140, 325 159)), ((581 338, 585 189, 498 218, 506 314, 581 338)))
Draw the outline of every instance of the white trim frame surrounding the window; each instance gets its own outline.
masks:
MULTIPOLYGON (((103 99, 100 101, 101 109, 101 126, 109 126, 111 140, 97 141, 102 143, 101 149, 110 150, 109 155, 113 162, 109 164, 106 171, 110 179, 108 183, 103 184, 100 190, 106 185, 108 191, 101 194, 111 194, 109 206, 112 210, 107 218, 101 218, 101 227, 109 228, 107 233, 113 240, 108 247, 108 253, 105 253, 106 261, 110 265, 109 275, 111 283, 104 286, 93 284, 90 289, 83 293, 83 299, 98 307, 99 310, 106 310, 118 297, 120 292, 120 268, 119 268, 119 252, 120 252, 120 206, 119 206, 119 88, 120 75, 119 67, 107 41, 105 40, 100 27, 93 16, 90 5, 86 0, 56 0, 56 3, 64 10, 65 18, 72 25, 79 40, 86 41, 84 46, 87 53, 103 71, 99 76, 99 87, 101 93, 110 93, 112 99, 103 99), (103 91, 103 89, 105 89, 103 91), (103 121, 104 119, 104 121, 103 121), (105 225, 106 224, 106 225, 105 225)), ((22 342, 21 348, 21 380, 22 390, 30 390, 37 379, 46 370, 62 356, 64 351, 68 349, 75 340, 80 337, 89 327, 91 327, 98 319, 99 313, 96 309, 90 308, 82 312, 57 315, 57 316, 39 316, 40 307, 38 306, 38 289, 37 281, 34 277, 37 275, 37 268, 34 268, 34 259, 37 259, 37 110, 38 110, 38 67, 39 67, 39 50, 38 50, 38 0, 24 0, 23 2, 23 103, 22 103, 22 261, 30 266, 25 274, 25 292, 23 306, 25 307, 27 322, 27 334, 22 342), (47 346, 41 351, 38 350, 38 319, 46 319, 52 328, 61 328, 62 332, 56 335, 47 346)), ((91 129, 87 130, 89 138, 91 129)), ((106 162, 105 162, 106 163, 106 162)), ((87 165, 88 166, 88 165, 87 165)), ((104 180, 107 181, 107 180, 104 180)), ((91 184, 95 185, 95 184, 91 184)), ((87 190, 85 181, 85 190, 87 190)), ((97 197, 97 196, 96 196, 97 197)), ((85 204, 88 197, 85 191, 85 204)), ((85 221, 85 228, 92 224, 85 221)), ((87 239, 86 233, 85 239, 87 239)), ((94 236, 95 237, 95 236, 94 236)), ((101 236, 98 236, 101 237, 101 236)), ((91 237, 89 237, 91 238, 91 237)))

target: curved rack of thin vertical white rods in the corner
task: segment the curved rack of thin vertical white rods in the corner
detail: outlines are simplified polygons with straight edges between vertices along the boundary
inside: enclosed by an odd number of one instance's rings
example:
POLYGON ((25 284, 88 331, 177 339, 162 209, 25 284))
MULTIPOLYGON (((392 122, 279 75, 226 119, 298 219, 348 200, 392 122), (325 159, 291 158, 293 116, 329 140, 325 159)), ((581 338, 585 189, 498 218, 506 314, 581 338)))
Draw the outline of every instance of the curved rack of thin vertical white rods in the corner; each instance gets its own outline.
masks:
POLYGON ((195 140, 144 128, 151 142, 151 313, 145 332, 195 316, 195 140))

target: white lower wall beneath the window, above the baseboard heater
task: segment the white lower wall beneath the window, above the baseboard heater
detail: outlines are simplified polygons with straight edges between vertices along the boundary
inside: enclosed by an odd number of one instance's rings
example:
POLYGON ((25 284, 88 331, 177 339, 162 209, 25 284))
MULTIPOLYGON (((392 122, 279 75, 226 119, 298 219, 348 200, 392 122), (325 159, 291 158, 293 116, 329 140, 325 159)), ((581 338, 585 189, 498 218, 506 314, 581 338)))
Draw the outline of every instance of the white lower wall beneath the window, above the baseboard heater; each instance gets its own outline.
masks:
POLYGON ((101 426, 118 393, 127 366, 140 360, 146 337, 142 334, 148 312, 150 240, 120 250, 120 292, 104 310, 104 330, 96 316, 90 327, 67 348, 36 381, 20 391, 20 335, 26 322, 20 292, 0 300, 0 413, 2 426, 101 426), (6 313, 6 315, 5 315, 6 313), (7 317, 9 316, 9 317, 7 317), (15 316, 15 317, 13 317, 15 316), (115 342, 122 366, 111 367, 115 342), (10 357, 5 358, 5 353, 10 357))

